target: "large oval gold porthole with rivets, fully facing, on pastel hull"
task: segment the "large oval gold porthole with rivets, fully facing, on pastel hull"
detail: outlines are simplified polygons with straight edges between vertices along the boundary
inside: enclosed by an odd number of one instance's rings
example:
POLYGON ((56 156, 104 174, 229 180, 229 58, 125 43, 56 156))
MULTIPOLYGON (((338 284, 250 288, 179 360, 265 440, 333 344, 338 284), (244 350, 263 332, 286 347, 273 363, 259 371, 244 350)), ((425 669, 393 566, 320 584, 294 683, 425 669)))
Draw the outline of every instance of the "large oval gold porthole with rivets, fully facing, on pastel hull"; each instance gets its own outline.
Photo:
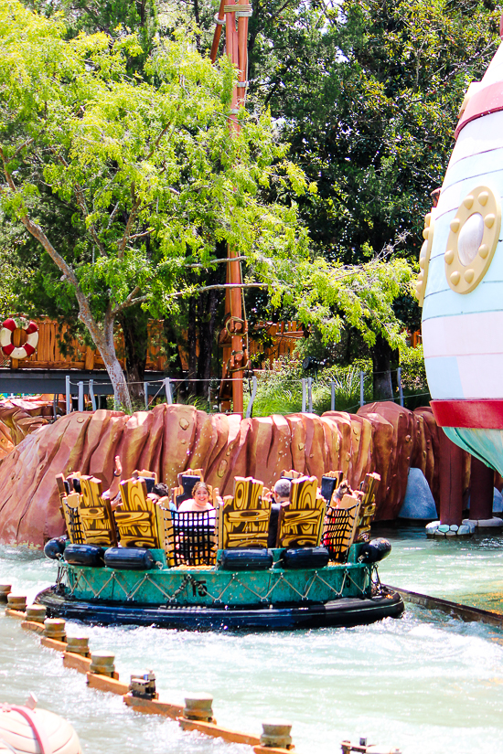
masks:
POLYGON ((501 228, 499 196, 477 186, 465 196, 451 220, 444 254, 445 277, 456 293, 470 293, 484 278, 498 246, 501 228))

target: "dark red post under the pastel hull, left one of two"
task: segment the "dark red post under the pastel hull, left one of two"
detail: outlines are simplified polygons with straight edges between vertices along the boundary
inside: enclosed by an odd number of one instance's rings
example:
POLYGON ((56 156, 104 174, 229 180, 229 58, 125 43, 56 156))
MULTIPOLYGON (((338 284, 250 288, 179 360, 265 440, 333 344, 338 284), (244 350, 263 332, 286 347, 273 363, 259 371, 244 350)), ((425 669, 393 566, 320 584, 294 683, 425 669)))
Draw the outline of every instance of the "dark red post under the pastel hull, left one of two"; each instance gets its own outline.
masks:
POLYGON ((459 526, 463 519, 463 451, 443 430, 440 440, 440 522, 459 526))

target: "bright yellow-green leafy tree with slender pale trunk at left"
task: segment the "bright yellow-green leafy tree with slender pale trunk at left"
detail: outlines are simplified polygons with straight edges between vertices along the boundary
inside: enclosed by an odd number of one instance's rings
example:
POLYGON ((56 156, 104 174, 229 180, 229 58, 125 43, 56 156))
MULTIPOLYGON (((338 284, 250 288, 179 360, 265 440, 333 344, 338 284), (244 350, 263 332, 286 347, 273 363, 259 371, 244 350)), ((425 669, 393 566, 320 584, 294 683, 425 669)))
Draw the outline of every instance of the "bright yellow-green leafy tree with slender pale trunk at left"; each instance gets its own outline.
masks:
POLYGON ((53 295, 67 308, 77 301, 116 401, 129 408, 117 318, 136 304, 176 315, 181 298, 213 290, 198 280, 218 266, 222 243, 247 261, 246 285, 273 285, 281 298, 305 258, 305 233, 294 206, 265 204, 258 192, 271 181, 302 192, 305 179, 284 162, 266 116, 241 112, 230 139, 226 58, 211 66, 182 35, 159 43, 145 64, 153 86, 127 74, 142 54, 135 37, 65 34, 60 20, 15 0, 0 9, 0 201, 56 264, 53 295), (54 196, 70 213, 70 238, 38 221, 54 196))

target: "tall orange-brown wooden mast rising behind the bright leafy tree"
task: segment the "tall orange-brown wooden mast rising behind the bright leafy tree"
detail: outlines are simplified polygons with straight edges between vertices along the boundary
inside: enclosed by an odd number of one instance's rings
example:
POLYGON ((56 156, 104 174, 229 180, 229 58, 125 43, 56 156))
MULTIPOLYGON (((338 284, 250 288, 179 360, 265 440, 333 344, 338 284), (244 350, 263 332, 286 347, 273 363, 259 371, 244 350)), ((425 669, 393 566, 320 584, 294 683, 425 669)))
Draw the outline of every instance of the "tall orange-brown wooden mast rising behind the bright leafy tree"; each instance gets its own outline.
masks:
MULTIPOLYGON (((219 50, 221 27, 225 26, 225 47, 230 62, 238 69, 238 80, 232 89, 232 101, 229 116, 230 135, 241 129, 237 114, 244 104, 248 87, 248 18, 252 16, 252 5, 247 0, 220 0, 219 13, 215 16, 217 27, 213 37, 210 58, 215 62, 219 50)), ((222 386, 226 379, 232 379, 232 404, 234 413, 242 415, 243 409, 243 372, 248 355, 243 345, 247 323, 243 315, 242 275, 238 252, 230 245, 227 247, 227 277, 230 287, 225 296, 225 329, 227 339, 224 343, 222 386), (230 339, 230 342, 229 342, 230 339)))

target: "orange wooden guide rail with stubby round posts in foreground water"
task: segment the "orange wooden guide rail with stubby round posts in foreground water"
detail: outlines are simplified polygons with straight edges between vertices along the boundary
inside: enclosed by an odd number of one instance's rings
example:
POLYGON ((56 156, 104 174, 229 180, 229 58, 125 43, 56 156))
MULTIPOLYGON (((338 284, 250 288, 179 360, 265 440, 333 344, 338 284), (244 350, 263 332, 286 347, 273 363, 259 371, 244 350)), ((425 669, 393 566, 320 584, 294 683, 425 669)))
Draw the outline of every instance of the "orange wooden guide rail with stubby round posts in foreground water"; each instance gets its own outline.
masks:
MULTIPOLYGON (((8 607, 11 603, 11 600, 8 600, 8 597, 11 596, 10 589, 10 585, 0 584, 0 602, 7 601, 5 615, 20 619, 22 621, 22 628, 27 631, 47 634, 48 632, 54 633, 56 629, 60 636, 64 635, 66 638, 65 621, 46 619, 42 623, 40 621, 27 620, 27 613, 29 614, 30 611, 33 611, 32 614, 34 615, 37 613, 41 615, 42 611, 39 608, 42 606, 33 605, 27 608, 26 597, 13 595, 16 599, 12 600, 13 604, 16 603, 18 606, 22 606, 24 600, 25 611, 14 610, 8 607), (9 591, 6 591, 6 589, 9 589, 9 591)), ((134 696, 130 690, 132 685, 124 684, 119 680, 119 674, 114 669, 114 655, 112 653, 95 652, 93 657, 85 641, 87 637, 69 637, 69 639, 70 647, 77 645, 83 654, 69 652, 69 644, 66 641, 61 642, 57 639, 49 638, 48 635, 40 637, 40 644, 47 649, 60 652, 62 654, 63 666, 84 674, 87 685, 91 688, 104 693, 123 696, 124 704, 136 712, 144 715, 169 717, 172 720, 177 720, 182 730, 196 730, 209 738, 221 738, 227 743, 251 746, 254 754, 291 754, 294 750, 292 738, 290 737, 292 725, 284 720, 267 720, 263 722, 262 735, 259 737, 219 726, 213 717, 213 697, 209 694, 187 694, 185 696, 185 706, 164 702, 158 698, 134 696), (85 656, 85 654, 89 656, 85 656), (91 666, 98 672, 91 673, 91 666), (111 670, 112 668, 113 670, 111 670), (111 672, 112 675, 110 675, 111 672)), ((132 682, 137 677, 132 676, 132 682)), ((155 696, 157 695, 155 694, 155 696)))

